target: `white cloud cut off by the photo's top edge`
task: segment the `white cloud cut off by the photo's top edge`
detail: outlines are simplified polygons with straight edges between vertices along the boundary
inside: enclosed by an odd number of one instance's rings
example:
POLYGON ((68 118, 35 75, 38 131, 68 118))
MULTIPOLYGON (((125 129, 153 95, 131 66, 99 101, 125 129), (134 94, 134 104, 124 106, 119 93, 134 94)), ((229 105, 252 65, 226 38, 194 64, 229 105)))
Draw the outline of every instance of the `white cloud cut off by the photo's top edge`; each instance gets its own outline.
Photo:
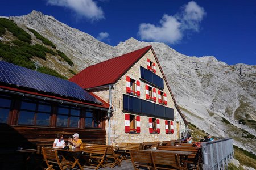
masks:
POLYGON ((104 19, 104 12, 93 0, 47 0, 48 5, 67 7, 79 16, 92 21, 104 19))

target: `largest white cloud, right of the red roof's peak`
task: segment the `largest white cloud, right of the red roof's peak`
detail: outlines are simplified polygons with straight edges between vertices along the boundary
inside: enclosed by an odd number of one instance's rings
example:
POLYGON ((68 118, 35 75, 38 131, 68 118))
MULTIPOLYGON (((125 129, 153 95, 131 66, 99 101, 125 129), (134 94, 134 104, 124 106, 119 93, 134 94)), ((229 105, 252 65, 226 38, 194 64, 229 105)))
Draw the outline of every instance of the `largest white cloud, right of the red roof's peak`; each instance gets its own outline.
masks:
POLYGON ((160 25, 141 23, 138 35, 142 40, 175 44, 183 38, 185 31, 199 32, 200 22, 205 15, 204 8, 191 1, 174 16, 164 14, 160 25))

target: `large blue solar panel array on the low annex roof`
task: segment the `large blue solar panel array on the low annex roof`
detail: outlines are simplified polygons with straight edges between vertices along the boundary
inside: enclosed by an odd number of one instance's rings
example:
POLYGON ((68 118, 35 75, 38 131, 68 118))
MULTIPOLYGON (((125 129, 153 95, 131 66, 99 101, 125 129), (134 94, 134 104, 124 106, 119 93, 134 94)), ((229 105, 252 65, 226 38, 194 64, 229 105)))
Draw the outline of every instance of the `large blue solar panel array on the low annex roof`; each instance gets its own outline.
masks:
POLYGON ((0 61, 0 81, 38 91, 51 92, 61 96, 101 103, 76 83, 36 72, 5 61, 0 61))

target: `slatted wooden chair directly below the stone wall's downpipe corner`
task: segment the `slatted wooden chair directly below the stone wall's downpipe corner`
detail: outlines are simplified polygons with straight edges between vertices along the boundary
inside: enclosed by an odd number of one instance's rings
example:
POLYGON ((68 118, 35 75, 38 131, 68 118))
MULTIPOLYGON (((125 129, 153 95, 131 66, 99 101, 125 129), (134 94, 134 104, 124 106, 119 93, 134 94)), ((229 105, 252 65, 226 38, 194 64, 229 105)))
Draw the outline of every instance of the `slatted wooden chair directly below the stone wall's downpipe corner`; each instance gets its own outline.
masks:
POLYGON ((109 166, 111 168, 115 167, 115 165, 121 167, 121 154, 116 154, 113 146, 111 145, 107 145, 105 163, 106 166, 109 166))

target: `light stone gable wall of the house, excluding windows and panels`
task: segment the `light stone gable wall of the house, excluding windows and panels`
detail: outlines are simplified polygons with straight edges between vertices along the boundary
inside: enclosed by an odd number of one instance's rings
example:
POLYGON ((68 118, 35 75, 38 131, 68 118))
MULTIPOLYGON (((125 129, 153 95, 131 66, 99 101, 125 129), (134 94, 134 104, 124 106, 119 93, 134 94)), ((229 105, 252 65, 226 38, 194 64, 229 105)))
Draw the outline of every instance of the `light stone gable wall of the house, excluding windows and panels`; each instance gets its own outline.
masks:
MULTIPOLYGON (((171 139, 177 139, 178 133, 176 131, 177 122, 180 124, 180 130, 185 130, 184 121, 182 120, 180 114, 177 112, 174 107, 174 100, 171 97, 170 91, 167 88, 166 82, 164 82, 164 90, 163 92, 167 94, 167 107, 174 109, 174 134, 166 134, 165 130, 165 120, 160 120, 160 134, 150 134, 148 130, 148 116, 140 116, 141 118, 141 133, 139 134, 129 134, 125 133, 125 112, 123 109, 123 94, 126 94, 126 76, 130 76, 131 79, 140 80, 140 66, 147 68, 147 58, 150 61, 156 63, 154 54, 152 50, 149 50, 125 75, 123 75, 117 83, 114 84, 112 88, 112 105, 114 112, 113 116, 110 119, 111 123, 111 135, 110 142, 143 142, 143 141, 167 141, 171 139)), ((163 75, 159 69, 159 66, 156 63, 156 75, 163 78, 163 75)), ((140 99, 146 100, 146 90, 145 85, 142 80, 140 80, 140 99)), ((150 84, 148 84, 150 86, 150 84)), ((156 88, 156 103, 158 103, 158 89, 156 88)), ((109 90, 102 90, 98 92, 94 92, 97 96, 100 96, 103 100, 109 101, 109 90)), ((154 103, 154 101, 151 101, 154 103)), ((131 114, 131 113, 129 113, 131 114)), ((153 117, 154 118, 154 117, 153 117)), ((109 123, 106 122, 106 143, 108 144, 108 131, 109 131, 109 123)))

